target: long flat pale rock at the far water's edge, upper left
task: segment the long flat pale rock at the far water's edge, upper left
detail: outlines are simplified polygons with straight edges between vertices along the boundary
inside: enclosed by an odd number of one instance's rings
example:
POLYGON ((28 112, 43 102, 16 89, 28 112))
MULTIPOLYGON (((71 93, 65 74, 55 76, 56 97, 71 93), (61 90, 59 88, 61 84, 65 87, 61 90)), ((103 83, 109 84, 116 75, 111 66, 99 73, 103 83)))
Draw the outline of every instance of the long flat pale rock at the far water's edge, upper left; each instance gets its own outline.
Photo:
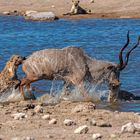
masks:
POLYGON ((25 19, 39 21, 53 21, 58 19, 53 12, 26 12, 25 19))

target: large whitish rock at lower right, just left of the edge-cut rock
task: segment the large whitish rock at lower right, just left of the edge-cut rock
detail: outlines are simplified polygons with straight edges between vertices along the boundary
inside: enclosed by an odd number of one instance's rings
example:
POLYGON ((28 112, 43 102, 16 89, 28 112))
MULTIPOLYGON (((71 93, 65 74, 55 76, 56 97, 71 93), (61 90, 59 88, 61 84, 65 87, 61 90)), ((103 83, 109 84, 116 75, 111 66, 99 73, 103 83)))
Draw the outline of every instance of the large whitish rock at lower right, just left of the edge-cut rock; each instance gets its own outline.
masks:
POLYGON ((125 132, 134 133, 135 130, 136 129, 135 129, 134 124, 130 122, 122 126, 121 133, 125 133, 125 132))

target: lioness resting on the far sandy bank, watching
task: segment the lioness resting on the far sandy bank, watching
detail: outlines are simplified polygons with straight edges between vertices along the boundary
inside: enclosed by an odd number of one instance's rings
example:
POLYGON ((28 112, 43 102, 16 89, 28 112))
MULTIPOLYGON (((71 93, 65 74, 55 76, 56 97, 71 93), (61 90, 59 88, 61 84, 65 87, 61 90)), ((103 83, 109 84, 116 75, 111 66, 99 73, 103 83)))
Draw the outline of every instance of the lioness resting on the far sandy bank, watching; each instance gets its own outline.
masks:
POLYGON ((69 13, 66 13, 64 15, 78 15, 78 14, 87 14, 87 10, 83 9, 81 6, 79 6, 80 1, 79 0, 72 0, 72 7, 69 13))

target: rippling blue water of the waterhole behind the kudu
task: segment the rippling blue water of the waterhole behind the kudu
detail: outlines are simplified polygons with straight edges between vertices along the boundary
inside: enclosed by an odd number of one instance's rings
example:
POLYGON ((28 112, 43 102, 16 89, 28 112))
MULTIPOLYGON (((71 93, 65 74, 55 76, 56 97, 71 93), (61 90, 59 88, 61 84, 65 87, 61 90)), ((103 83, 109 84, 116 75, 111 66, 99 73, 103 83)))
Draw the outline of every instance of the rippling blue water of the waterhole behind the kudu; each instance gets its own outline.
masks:
MULTIPOLYGON (((0 17, 0 70, 12 54, 28 56, 45 48, 78 46, 91 57, 118 63, 118 53, 130 30, 132 46, 140 35, 140 19, 86 19, 54 22, 25 21, 22 17, 0 17)), ((130 47, 129 46, 129 47, 130 47)), ((121 72, 122 89, 140 96, 140 47, 121 72)), ((21 68, 19 77, 23 77, 21 68)), ((49 82, 48 86, 51 86, 49 82)), ((38 83, 35 83, 37 85, 38 83)), ((39 82, 42 87, 46 83, 39 82)), ((123 103, 122 111, 140 111, 139 103, 123 103)))

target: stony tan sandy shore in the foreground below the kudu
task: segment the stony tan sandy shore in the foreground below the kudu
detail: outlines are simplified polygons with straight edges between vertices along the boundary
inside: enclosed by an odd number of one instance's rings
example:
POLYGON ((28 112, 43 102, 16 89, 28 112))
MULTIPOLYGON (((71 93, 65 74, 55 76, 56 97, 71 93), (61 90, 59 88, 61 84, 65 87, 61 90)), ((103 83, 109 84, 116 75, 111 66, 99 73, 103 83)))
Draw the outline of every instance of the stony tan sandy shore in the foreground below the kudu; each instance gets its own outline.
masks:
MULTIPOLYGON (((27 106, 29 101, 0 105, 0 138, 2 140, 23 140, 25 137, 33 137, 35 140, 91 140, 93 133, 101 133, 103 140, 139 140, 140 132, 121 134, 122 125, 128 122, 140 123, 140 115, 133 112, 111 112, 109 110, 94 109, 91 102, 72 103, 63 101, 57 105, 43 106, 43 113, 34 113, 34 109, 27 106), (87 108, 83 111, 74 111, 75 107, 83 105, 87 108), (27 118, 15 120, 11 117, 14 113, 25 113, 27 118), (49 120, 42 119, 43 115, 50 114, 50 119, 55 118, 56 124, 49 124, 49 120), (76 125, 65 126, 63 121, 71 119, 76 125), (94 119, 97 124, 106 122, 112 127, 99 127, 91 125, 94 119), (87 125, 89 131, 86 134, 74 134, 74 130, 81 125, 87 125), (112 138, 115 134, 116 138, 112 138)), ((38 104, 33 103, 35 106, 38 104)))

